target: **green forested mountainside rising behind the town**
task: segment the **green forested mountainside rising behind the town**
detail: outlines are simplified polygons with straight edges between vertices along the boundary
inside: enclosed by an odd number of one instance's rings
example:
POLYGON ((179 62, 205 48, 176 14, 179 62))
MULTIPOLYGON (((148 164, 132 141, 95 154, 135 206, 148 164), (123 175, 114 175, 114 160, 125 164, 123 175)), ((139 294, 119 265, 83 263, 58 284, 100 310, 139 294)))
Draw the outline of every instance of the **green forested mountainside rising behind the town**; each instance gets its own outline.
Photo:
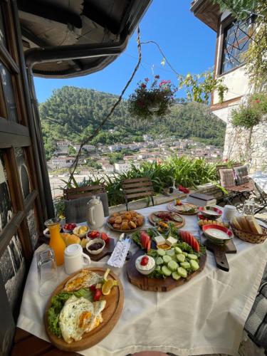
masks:
MULTIPOLYGON (((116 95, 92 89, 64 86, 54 90, 51 97, 39 105, 47 157, 53 155, 54 140, 80 142, 83 135, 90 135, 116 100, 116 95)), ((209 112, 209 107, 204 104, 177 103, 167 117, 155 117, 144 122, 130 116, 127 100, 123 100, 103 130, 90 143, 128 143, 141 141, 142 135, 149 134, 194 138, 223 147, 225 129, 225 123, 209 112), (108 132, 114 127, 116 132, 108 132)))

